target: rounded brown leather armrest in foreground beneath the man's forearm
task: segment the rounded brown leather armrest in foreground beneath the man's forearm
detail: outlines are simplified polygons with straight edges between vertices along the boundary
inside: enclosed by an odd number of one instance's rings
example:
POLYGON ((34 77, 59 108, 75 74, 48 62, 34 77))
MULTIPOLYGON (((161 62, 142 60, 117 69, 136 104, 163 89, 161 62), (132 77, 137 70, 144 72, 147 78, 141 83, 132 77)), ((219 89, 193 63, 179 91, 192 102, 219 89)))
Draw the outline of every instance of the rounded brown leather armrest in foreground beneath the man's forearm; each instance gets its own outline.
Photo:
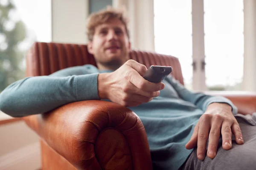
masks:
POLYGON ((24 119, 78 169, 152 170, 143 123, 130 109, 116 103, 74 102, 24 119))

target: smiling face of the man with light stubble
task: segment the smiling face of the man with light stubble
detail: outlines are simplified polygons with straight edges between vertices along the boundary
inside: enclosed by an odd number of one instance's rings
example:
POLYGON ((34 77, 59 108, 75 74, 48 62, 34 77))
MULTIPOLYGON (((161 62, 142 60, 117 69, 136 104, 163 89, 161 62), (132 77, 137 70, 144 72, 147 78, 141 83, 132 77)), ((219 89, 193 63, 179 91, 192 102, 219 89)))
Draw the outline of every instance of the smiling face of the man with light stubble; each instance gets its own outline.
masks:
POLYGON ((118 68, 125 63, 130 48, 125 26, 120 20, 97 26, 93 40, 88 43, 88 51, 94 55, 97 64, 108 68, 118 68))

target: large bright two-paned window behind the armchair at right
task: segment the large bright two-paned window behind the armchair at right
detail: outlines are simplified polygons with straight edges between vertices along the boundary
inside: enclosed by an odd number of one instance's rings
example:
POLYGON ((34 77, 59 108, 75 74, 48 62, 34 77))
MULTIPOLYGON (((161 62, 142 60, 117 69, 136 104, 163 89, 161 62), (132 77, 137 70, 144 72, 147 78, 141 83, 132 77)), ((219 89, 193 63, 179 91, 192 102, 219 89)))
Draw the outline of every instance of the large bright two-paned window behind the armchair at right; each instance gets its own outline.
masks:
MULTIPOLYGON (((243 5, 243 0, 154 0, 155 51, 180 60, 186 88, 241 90, 243 5), (201 57, 206 62, 205 73, 192 71, 192 58, 197 57, 192 56, 192 24, 198 25, 192 23, 192 3, 193 7, 204 8, 204 17, 193 22, 204 25, 198 27, 204 27, 203 34, 195 38, 204 38, 205 57, 204 54, 201 57), (193 83, 192 77, 203 81, 193 83)), ((193 14, 196 16, 197 11, 193 14)), ((193 46, 198 47, 198 44, 193 46)))

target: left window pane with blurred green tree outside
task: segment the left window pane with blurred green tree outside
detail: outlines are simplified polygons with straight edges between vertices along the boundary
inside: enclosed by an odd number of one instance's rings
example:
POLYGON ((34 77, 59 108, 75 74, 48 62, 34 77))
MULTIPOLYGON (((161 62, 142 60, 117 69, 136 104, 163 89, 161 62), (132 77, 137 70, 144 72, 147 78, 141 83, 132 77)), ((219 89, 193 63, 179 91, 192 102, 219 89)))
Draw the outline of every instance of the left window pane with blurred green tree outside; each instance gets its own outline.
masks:
POLYGON ((35 41, 51 41, 51 0, 0 0, 0 92, 25 77, 35 41))

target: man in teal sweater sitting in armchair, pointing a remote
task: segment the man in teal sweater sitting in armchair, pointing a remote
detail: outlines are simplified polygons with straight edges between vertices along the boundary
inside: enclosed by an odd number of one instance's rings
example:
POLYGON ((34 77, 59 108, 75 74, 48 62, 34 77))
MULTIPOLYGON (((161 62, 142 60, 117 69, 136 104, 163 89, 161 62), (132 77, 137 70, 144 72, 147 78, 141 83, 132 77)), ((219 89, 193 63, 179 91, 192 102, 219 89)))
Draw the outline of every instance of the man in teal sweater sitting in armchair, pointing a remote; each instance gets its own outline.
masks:
POLYGON ((256 167, 253 119, 237 114, 230 100, 188 91, 172 76, 160 83, 143 79, 145 65, 127 60, 131 43, 122 11, 92 14, 87 29, 88 51, 98 68, 84 65, 21 79, 0 94, 0 110, 20 117, 70 102, 108 100, 140 117, 156 170, 256 167))

